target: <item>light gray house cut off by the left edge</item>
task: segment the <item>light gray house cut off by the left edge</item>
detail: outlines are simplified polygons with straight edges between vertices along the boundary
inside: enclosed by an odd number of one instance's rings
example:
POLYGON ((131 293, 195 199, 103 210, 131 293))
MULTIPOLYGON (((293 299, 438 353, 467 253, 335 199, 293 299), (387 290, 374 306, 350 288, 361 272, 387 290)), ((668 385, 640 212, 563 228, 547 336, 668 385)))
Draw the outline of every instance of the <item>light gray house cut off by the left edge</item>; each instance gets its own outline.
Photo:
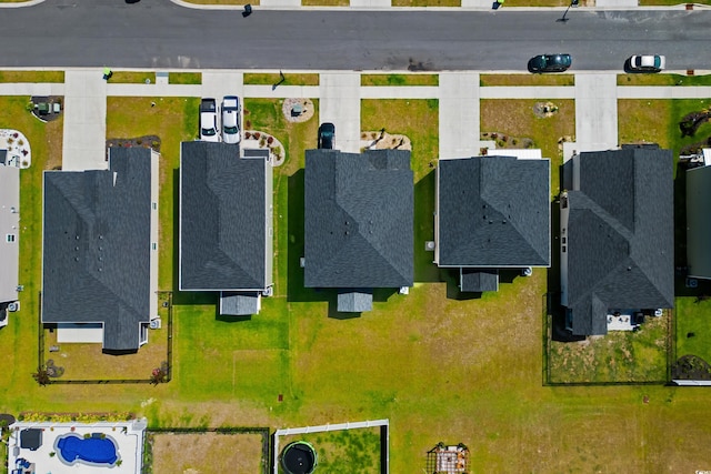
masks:
POLYGON ((6 164, 0 150, 0 327, 17 307, 20 261, 20 169, 6 164))

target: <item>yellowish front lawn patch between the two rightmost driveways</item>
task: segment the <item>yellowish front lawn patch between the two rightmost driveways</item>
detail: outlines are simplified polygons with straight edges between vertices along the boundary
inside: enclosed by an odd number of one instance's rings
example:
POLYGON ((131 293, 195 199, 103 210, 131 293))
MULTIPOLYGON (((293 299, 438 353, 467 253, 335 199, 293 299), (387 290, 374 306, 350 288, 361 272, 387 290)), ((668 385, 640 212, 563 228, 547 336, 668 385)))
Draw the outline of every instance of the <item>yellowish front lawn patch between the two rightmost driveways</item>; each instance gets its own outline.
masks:
POLYGON ((558 112, 539 118, 533 107, 541 100, 489 99, 481 101, 481 131, 505 133, 518 139, 533 139, 544 158, 551 160, 551 193, 560 192, 562 148, 559 140, 575 135, 575 103, 573 100, 553 100, 558 112))

